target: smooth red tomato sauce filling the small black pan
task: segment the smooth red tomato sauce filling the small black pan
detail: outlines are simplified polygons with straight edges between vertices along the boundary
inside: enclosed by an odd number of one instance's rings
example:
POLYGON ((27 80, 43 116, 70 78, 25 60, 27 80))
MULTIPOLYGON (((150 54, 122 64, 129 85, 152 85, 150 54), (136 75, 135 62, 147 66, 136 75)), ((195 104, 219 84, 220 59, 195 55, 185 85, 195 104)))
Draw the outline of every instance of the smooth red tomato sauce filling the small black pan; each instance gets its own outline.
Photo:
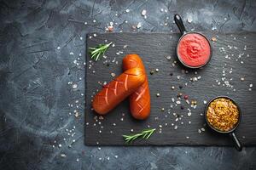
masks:
POLYGON ((184 65, 198 67, 205 65, 210 59, 211 47, 206 37, 188 33, 179 41, 177 54, 184 65))

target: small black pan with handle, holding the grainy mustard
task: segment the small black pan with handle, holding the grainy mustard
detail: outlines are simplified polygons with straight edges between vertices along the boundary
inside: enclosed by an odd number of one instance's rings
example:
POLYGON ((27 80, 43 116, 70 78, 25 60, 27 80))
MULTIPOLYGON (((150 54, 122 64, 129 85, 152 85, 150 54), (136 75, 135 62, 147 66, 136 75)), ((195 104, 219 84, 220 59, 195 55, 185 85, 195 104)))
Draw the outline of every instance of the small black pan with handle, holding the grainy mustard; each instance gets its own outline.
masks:
POLYGON ((241 122, 241 110, 240 110, 240 107, 236 104, 236 102, 234 101, 234 99, 231 99, 230 97, 227 97, 227 96, 218 96, 216 98, 213 98, 211 99, 211 101, 208 102, 207 106, 206 106, 206 109, 205 109, 205 119, 206 119, 206 122, 207 122, 207 125, 208 127, 210 127, 213 131, 217 132, 217 133, 228 133, 230 134, 230 137, 233 139, 234 143, 235 143, 235 146, 236 146, 236 150, 238 151, 241 151, 242 150, 242 145, 239 141, 239 139, 236 138, 236 133, 234 132, 236 130, 236 127, 238 127, 239 123, 241 122), (238 108, 238 111, 239 111, 239 119, 238 119, 238 122, 236 123, 236 126, 233 127, 230 131, 220 131, 214 127, 212 127, 212 125, 210 124, 210 122, 208 122, 207 120, 207 109, 208 109, 208 106, 212 103, 212 101, 214 99, 218 99, 218 98, 225 98, 225 99, 230 99, 238 108))

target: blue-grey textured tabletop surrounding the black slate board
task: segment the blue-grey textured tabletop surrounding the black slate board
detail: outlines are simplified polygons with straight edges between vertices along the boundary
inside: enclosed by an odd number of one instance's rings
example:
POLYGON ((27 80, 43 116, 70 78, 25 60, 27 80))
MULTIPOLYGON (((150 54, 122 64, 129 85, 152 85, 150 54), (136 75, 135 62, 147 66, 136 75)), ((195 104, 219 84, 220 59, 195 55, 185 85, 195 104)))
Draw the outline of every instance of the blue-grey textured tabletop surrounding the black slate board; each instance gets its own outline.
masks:
POLYGON ((255 8, 253 0, 1 1, 0 169, 256 168, 254 147, 238 153, 227 147, 84 146, 81 95, 85 34, 103 32, 111 20, 118 24, 114 31, 132 31, 142 22, 138 31, 177 32, 172 16, 179 13, 192 15, 189 27, 197 31, 255 31, 255 8), (76 105, 79 117, 73 116, 76 105))

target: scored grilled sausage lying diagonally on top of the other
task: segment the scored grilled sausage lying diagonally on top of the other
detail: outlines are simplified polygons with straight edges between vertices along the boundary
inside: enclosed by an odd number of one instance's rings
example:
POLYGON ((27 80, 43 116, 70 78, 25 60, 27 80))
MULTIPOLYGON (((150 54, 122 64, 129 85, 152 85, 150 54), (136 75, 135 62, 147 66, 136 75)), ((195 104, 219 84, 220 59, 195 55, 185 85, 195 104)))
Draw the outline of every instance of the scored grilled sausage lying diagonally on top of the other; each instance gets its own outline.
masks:
POLYGON ((93 99, 92 107, 100 114, 105 115, 130 94, 134 93, 143 82, 145 73, 140 68, 132 68, 116 77, 112 82, 103 86, 93 99))

